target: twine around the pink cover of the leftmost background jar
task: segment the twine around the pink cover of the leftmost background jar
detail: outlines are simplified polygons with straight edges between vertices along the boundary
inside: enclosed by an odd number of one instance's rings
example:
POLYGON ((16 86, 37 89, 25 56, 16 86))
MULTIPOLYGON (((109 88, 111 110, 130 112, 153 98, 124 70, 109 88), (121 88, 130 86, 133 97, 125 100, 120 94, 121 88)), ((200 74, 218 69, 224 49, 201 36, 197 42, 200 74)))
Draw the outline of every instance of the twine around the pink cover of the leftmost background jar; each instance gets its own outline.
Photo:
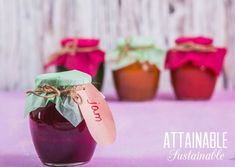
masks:
POLYGON ((99 50, 98 46, 78 47, 77 46, 77 41, 76 40, 72 40, 72 41, 67 42, 65 44, 65 46, 62 47, 60 50, 58 50, 57 52, 53 53, 49 57, 49 62, 55 60, 59 56, 64 55, 66 53, 74 55, 77 52, 87 53, 87 52, 93 52, 93 51, 96 51, 96 50, 99 50))

